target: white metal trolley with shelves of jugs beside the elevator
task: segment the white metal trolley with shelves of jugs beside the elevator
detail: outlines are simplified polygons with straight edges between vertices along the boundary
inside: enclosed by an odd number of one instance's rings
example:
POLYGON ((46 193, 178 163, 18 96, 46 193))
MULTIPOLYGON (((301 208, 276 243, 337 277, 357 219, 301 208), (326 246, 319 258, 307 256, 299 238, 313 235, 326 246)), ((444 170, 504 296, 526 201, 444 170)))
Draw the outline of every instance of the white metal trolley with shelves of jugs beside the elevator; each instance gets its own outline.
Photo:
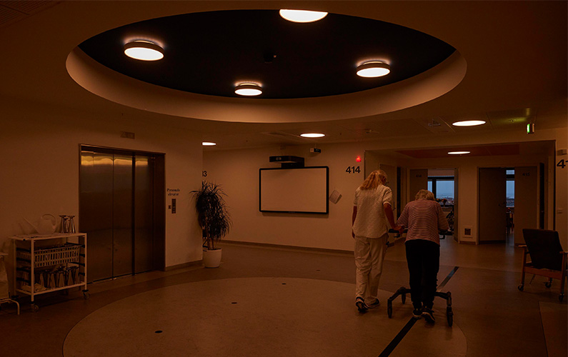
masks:
POLYGON ((11 236, 14 240, 14 291, 31 296, 31 309, 36 295, 86 288, 86 233, 11 236))

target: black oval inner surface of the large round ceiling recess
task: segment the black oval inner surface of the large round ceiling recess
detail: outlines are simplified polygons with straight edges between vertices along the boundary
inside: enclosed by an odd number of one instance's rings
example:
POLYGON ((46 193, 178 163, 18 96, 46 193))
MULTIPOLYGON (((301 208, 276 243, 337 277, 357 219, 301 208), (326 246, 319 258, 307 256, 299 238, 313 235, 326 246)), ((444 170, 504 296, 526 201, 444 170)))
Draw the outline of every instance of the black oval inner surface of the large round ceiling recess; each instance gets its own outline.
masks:
POLYGON ((394 84, 441 64, 455 49, 420 31, 384 21, 328 14, 299 24, 278 10, 181 14, 111 29, 79 45, 91 59, 139 81, 192 94, 241 97, 254 83, 259 99, 349 94, 394 84), (163 49, 158 61, 124 54, 132 41, 163 49), (357 76, 367 61, 389 65, 377 78, 357 76))

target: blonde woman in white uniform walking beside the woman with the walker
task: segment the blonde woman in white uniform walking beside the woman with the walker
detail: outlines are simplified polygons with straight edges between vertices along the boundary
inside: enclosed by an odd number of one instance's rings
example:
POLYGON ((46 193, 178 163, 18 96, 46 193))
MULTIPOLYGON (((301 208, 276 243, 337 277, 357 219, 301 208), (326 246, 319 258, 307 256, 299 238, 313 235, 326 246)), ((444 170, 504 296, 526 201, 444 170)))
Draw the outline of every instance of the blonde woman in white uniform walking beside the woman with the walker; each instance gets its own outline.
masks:
POLYGON ((388 225, 395 228, 392 191, 385 183, 387 174, 382 170, 373 171, 355 191, 352 236, 355 239, 355 306, 359 312, 379 306, 377 292, 387 253, 388 225))

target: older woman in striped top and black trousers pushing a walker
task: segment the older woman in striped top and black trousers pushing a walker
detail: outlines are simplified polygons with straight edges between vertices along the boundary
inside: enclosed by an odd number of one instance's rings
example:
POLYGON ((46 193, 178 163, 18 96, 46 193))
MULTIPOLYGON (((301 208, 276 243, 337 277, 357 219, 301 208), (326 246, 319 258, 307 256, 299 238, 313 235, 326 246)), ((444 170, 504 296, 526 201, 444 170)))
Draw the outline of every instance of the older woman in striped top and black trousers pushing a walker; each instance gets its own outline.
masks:
POLYGON ((407 226, 407 264, 410 276, 410 298, 414 318, 434 322, 434 293, 436 293, 440 266, 439 231, 445 231, 448 221, 434 193, 420 190, 416 200, 404 206, 397 224, 407 226), (424 286, 423 286, 424 284, 424 286))

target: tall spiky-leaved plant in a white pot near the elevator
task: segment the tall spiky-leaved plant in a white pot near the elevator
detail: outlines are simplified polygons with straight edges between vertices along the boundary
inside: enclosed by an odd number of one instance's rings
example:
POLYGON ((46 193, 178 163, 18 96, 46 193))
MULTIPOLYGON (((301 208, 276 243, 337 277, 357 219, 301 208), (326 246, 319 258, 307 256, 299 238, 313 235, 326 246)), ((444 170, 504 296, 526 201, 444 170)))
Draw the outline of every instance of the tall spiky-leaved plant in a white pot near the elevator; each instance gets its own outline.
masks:
POLYGON ((221 248, 215 243, 231 229, 231 216, 223 196, 226 194, 217 183, 203 181, 201 189, 191 191, 195 198, 197 221, 203 230, 203 261, 206 268, 216 268, 221 263, 221 248))

